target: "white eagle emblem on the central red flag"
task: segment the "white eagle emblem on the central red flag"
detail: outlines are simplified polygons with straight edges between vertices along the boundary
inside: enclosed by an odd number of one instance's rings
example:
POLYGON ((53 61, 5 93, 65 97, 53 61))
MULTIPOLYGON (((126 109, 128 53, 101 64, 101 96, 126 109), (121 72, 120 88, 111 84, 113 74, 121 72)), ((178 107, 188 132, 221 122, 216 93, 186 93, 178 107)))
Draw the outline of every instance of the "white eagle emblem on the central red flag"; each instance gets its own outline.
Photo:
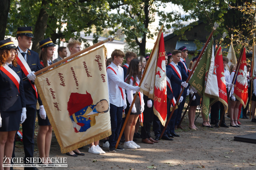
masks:
POLYGON ((159 71, 159 74, 156 74, 155 87, 159 88, 160 91, 163 91, 166 87, 166 72, 165 72, 165 60, 162 61, 162 68, 157 67, 156 73, 159 71), (163 71, 164 70, 164 71, 163 71))

